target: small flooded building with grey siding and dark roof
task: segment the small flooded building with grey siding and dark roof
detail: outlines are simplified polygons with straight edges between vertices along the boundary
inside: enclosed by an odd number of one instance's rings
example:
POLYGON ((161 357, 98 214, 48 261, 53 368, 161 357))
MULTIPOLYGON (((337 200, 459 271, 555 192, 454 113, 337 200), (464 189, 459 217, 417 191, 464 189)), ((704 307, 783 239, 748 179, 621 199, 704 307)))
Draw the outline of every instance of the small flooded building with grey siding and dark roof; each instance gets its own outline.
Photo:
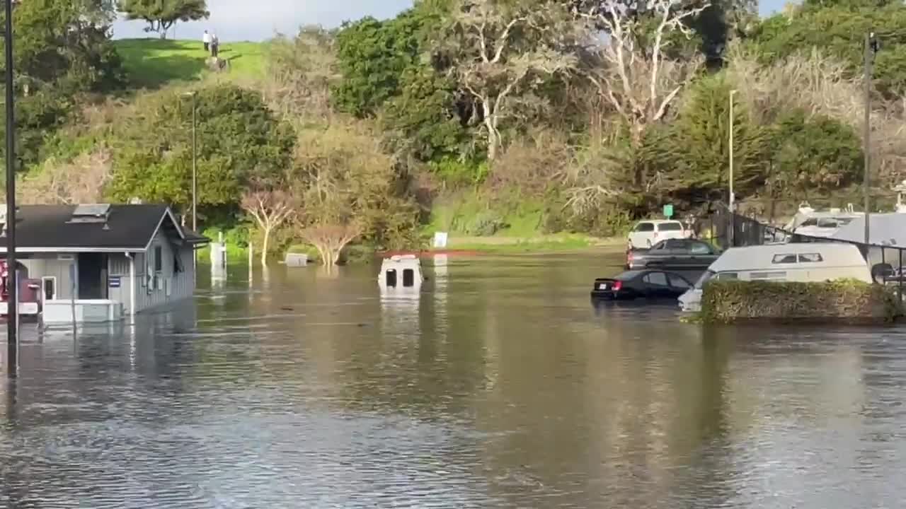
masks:
MULTIPOLYGON (((0 206, 5 210, 5 206, 0 206)), ((0 214, 5 257, 5 214, 0 214)), ((44 322, 106 321, 192 296, 208 239, 164 205, 20 206, 16 258, 40 280, 44 322), (74 305, 73 305, 74 304, 74 305)))

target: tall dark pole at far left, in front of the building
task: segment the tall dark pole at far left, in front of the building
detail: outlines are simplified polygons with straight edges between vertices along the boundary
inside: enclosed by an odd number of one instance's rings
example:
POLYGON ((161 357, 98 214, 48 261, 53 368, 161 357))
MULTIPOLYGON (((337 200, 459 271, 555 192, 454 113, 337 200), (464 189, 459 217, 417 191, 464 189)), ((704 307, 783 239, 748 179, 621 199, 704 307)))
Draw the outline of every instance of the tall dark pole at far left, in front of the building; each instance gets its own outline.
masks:
MULTIPOLYGON (((6 60, 6 345, 10 366, 14 366, 19 324, 19 277, 15 270, 15 116, 13 94, 13 0, 5 0, 6 60)), ((9 373, 14 376, 15 369, 9 373)))

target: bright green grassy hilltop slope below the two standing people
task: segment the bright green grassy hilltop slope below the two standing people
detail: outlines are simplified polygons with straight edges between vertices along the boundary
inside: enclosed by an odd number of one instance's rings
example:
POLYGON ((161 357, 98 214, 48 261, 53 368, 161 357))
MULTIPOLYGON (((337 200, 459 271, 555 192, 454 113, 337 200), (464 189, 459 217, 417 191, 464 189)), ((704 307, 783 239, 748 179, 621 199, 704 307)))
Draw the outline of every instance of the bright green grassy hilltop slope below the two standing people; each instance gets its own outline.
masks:
MULTIPOLYGON (((121 39, 114 41, 130 82, 157 88, 169 82, 194 82, 215 74, 207 69, 208 53, 200 41, 121 39)), ((265 71, 264 43, 220 43, 220 57, 229 61, 222 72, 229 79, 256 78, 265 71)))

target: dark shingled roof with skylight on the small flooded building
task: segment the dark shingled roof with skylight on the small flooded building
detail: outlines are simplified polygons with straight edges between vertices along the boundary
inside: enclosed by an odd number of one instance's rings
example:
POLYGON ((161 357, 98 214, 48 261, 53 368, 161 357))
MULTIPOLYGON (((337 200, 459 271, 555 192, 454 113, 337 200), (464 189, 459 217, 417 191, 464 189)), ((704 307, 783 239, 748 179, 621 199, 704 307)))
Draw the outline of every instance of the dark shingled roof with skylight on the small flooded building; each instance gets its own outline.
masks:
MULTIPOLYGON (((111 205, 110 216, 103 222, 73 223, 75 206, 24 205, 18 207, 15 222, 15 245, 18 249, 122 249, 142 251, 158 226, 174 240, 185 235, 188 244, 204 244, 207 238, 182 230, 164 205, 111 205)), ((0 239, 5 251, 5 238, 0 239)))

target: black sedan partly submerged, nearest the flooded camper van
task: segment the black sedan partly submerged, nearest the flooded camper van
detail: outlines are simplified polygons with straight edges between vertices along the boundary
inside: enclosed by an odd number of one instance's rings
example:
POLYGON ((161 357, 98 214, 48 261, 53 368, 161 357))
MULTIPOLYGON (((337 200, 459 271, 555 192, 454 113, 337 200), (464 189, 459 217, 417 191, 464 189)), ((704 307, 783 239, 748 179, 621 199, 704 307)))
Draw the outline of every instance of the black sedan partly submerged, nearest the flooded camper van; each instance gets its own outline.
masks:
POLYGON ((592 298, 606 301, 677 299, 692 283, 685 277, 657 270, 628 271, 611 279, 594 280, 592 298))

